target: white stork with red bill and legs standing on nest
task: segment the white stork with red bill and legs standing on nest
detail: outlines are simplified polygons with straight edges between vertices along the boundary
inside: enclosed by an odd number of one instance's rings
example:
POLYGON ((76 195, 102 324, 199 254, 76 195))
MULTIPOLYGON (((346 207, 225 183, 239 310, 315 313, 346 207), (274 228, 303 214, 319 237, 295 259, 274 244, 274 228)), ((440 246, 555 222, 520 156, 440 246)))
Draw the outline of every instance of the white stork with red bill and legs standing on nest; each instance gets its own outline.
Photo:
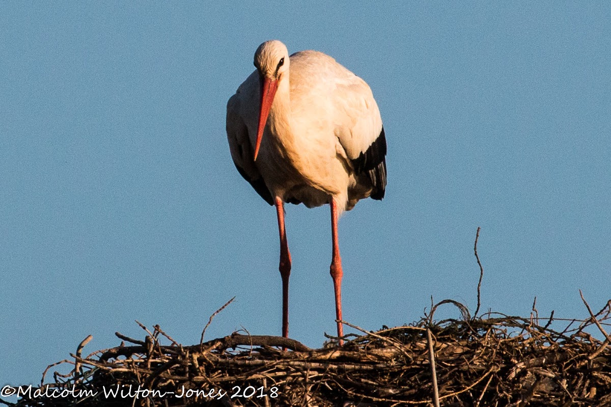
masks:
MULTIPOLYGON (((262 43, 257 68, 227 103, 227 138, 238 172, 269 205, 280 232, 282 335, 288 337, 291 255, 284 202, 331 206, 331 276, 342 320, 342 259, 337 219, 359 199, 381 200, 386 188, 386 138, 365 81, 323 53, 291 56, 280 41, 262 43)), ((340 345, 343 326, 337 323, 340 345)))

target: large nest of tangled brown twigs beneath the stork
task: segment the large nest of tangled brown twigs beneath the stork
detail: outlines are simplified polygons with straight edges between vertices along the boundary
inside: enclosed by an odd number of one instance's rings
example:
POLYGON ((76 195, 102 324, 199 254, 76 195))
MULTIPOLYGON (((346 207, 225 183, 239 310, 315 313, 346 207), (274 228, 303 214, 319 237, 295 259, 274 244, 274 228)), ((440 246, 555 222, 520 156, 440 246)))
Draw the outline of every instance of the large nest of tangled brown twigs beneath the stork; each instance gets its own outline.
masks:
POLYGON ((553 313, 472 318, 446 300, 412 325, 353 326, 363 334, 321 349, 240 332, 183 346, 141 325, 144 341, 117 332, 118 347, 83 357, 88 337, 59 362, 73 365, 68 375, 54 373, 38 394, 22 387, 16 406, 611 406, 611 300, 596 314, 584 304, 590 318, 555 331, 553 313), (463 317, 434 322, 441 304, 463 317))

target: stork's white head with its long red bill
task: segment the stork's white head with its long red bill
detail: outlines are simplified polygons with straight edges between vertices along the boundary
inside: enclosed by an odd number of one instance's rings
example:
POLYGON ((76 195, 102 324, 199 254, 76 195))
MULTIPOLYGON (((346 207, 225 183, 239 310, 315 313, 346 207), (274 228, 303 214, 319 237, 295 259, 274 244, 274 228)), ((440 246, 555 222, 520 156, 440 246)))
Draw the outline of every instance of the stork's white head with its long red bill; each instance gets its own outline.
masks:
POLYGON ((278 40, 262 43, 255 52, 254 64, 259 73, 261 89, 261 111, 259 112, 259 127, 254 157, 257 160, 263 130, 265 130, 271 105, 274 103, 278 82, 282 79, 282 75, 288 71, 288 65, 290 64, 287 47, 278 40))

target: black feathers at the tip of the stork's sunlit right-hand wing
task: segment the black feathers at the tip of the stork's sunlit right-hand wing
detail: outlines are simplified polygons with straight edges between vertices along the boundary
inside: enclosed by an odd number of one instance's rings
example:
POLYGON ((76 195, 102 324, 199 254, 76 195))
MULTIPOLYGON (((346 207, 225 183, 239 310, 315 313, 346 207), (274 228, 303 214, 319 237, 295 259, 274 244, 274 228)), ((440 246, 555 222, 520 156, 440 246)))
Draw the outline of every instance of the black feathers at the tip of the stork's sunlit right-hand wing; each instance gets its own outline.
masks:
POLYGON ((371 198, 381 200, 386 190, 386 136, 384 136, 384 127, 367 151, 360 153, 357 158, 351 161, 357 174, 367 172, 369 175, 374 187, 371 198))

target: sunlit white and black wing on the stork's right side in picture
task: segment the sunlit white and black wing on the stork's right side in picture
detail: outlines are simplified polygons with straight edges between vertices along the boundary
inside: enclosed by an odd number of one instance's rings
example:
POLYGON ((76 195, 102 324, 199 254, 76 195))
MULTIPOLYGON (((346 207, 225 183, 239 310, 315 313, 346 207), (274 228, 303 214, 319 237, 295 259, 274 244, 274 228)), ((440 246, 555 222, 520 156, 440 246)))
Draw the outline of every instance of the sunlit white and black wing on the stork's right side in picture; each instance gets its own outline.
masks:
POLYGON ((349 81, 337 83, 334 105, 339 110, 335 117, 343 120, 335 123, 335 136, 354 171, 369 176, 374 187, 371 197, 382 199, 386 189, 386 136, 371 89, 353 75, 349 81))

